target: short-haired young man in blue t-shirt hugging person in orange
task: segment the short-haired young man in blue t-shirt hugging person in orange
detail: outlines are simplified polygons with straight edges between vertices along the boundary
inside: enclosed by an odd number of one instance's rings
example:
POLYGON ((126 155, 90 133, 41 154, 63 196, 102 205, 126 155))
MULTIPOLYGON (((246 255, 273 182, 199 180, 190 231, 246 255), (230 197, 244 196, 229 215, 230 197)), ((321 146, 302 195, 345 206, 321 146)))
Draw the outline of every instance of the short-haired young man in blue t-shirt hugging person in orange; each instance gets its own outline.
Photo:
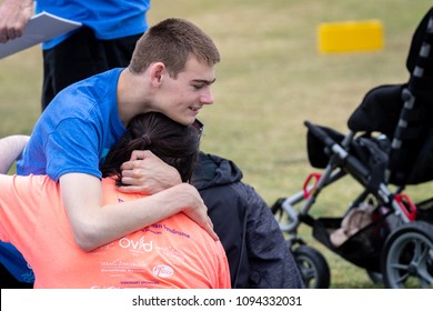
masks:
MULTIPOLYGON (((211 86, 220 54, 197 26, 168 19, 138 41, 128 68, 113 69, 62 90, 43 111, 17 162, 19 174, 48 174, 60 183, 75 242, 92 250, 180 211, 218 239, 198 191, 149 151, 122 165, 124 192, 143 200, 101 205, 99 164, 137 114, 162 112, 195 122, 213 103, 211 86)), ((1 249, 0 249, 1 250, 1 249)))

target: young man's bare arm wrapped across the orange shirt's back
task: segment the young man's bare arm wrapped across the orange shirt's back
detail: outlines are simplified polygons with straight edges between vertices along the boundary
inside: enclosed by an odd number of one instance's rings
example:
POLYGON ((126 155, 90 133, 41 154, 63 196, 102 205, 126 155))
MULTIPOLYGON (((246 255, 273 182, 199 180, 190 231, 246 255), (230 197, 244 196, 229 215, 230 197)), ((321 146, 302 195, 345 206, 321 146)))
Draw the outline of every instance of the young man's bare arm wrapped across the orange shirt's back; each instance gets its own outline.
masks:
POLYGON ((180 211, 193 219, 215 240, 212 223, 199 192, 180 183, 153 195, 102 205, 101 181, 84 173, 60 178, 62 200, 78 245, 90 251, 180 211))

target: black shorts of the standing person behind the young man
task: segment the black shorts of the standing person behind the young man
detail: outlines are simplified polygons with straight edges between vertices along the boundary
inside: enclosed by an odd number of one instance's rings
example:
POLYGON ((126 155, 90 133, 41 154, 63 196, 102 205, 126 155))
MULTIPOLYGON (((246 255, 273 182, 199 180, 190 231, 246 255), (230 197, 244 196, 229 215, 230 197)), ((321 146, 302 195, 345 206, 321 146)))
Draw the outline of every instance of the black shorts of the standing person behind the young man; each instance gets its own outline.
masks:
POLYGON ((109 69, 128 67, 141 36, 99 40, 83 27, 54 48, 43 50, 42 110, 66 87, 109 69))

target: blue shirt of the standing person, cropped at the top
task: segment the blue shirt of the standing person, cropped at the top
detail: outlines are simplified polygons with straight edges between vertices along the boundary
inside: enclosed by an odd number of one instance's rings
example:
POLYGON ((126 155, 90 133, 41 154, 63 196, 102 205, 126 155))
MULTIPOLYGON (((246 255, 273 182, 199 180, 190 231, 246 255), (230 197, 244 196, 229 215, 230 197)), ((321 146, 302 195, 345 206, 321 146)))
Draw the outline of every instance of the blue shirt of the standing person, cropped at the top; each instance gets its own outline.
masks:
MULTIPOLYGON (((49 12, 93 29, 98 39, 111 40, 143 33, 149 24, 150 0, 38 0, 36 12, 49 12)), ((43 43, 50 49, 70 33, 43 43)))

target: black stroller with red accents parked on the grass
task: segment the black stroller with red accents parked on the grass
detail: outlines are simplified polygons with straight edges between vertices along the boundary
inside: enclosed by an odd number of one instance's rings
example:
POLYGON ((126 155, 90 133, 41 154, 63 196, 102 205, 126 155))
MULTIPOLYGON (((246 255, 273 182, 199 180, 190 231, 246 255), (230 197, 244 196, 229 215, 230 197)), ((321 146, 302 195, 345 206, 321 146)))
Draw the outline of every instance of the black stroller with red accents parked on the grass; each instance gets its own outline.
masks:
POLYGON ((276 200, 272 211, 309 288, 328 288, 330 269, 299 237, 301 223, 385 288, 433 288, 433 191, 416 203, 404 193, 433 180, 433 8, 413 36, 406 67, 407 83, 381 86, 364 97, 348 134, 305 122, 310 163, 323 171, 309 175, 302 191, 276 200), (345 177, 362 191, 344 215, 313 218, 321 191, 345 177))

